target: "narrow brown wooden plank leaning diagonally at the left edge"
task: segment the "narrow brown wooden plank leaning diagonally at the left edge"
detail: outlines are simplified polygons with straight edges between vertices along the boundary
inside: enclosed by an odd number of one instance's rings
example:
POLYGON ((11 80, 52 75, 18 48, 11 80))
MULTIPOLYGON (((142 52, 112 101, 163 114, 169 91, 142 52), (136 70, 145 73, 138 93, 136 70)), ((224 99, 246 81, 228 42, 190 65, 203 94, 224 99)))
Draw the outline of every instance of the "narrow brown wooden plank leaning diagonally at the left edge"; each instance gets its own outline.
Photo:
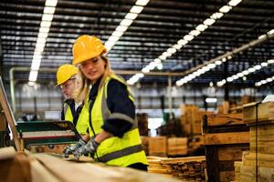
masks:
POLYGON ((8 123, 8 125, 10 126, 10 129, 12 131, 14 141, 15 141, 15 145, 16 145, 16 150, 17 151, 22 151, 23 148, 21 148, 18 133, 16 131, 16 119, 15 119, 15 117, 12 113, 12 110, 11 110, 9 104, 8 104, 8 100, 7 100, 7 97, 6 97, 6 94, 5 94, 5 88, 3 86, 1 76, 0 76, 0 104, 3 108, 3 110, 4 110, 6 122, 8 123))

